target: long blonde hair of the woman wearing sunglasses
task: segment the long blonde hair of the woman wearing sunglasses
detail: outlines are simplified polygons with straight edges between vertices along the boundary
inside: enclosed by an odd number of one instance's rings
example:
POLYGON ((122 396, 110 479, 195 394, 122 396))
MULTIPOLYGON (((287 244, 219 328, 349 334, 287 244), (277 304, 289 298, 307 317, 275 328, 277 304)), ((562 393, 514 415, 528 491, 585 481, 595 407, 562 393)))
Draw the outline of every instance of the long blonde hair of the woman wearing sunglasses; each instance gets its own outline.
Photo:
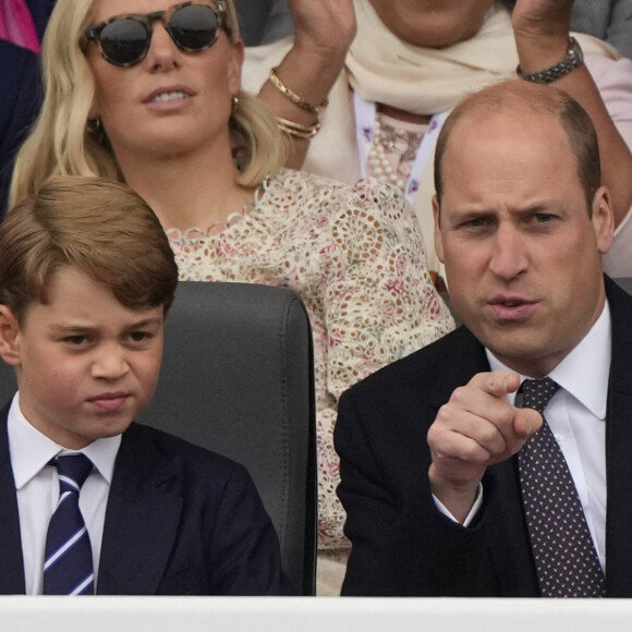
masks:
MULTIPOLYGON (((175 1, 175 0, 174 0, 175 1)), ((230 38, 239 39, 233 0, 227 4, 230 38)), ((107 135, 89 131, 95 82, 82 51, 83 32, 92 24, 96 0, 58 0, 42 44, 44 104, 20 149, 9 205, 33 195, 52 175, 92 175, 124 182, 107 135)), ((285 146, 274 114, 243 90, 230 120, 238 183, 258 186, 285 159, 285 146)))

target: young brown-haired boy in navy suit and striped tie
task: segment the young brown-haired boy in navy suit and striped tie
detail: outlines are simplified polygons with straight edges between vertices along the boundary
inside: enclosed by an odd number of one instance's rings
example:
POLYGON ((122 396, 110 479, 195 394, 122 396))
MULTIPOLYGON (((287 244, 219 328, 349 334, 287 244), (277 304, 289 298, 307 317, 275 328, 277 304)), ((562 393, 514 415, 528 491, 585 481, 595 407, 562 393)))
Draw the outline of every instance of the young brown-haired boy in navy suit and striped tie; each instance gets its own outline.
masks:
POLYGON ((284 592, 245 470, 133 423, 177 281, 121 184, 53 179, 0 224, 0 355, 19 385, 0 411, 0 594, 284 592))

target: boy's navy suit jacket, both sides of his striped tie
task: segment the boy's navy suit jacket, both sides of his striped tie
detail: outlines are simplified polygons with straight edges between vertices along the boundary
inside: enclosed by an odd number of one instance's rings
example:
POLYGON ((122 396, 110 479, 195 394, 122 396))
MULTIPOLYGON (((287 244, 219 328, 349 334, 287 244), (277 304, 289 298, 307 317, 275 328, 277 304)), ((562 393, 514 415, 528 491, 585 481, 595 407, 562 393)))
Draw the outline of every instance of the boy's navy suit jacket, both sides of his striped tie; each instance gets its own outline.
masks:
MULTIPOLYGON (((24 567, 7 415, 0 413, 0 594, 23 594, 24 567)), ((132 424, 108 498, 97 593, 287 592, 277 534, 245 469, 132 424)))

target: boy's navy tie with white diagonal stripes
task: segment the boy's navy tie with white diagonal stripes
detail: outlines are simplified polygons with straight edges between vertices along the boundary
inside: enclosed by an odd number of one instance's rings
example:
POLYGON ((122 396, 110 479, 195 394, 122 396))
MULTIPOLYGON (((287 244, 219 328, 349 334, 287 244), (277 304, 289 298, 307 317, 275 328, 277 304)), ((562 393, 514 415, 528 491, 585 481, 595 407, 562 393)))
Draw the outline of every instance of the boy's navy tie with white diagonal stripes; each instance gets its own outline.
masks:
POLYGON ((85 454, 58 457, 59 501, 50 518, 44 562, 45 595, 93 595, 93 549, 78 507, 82 485, 93 469, 85 454))

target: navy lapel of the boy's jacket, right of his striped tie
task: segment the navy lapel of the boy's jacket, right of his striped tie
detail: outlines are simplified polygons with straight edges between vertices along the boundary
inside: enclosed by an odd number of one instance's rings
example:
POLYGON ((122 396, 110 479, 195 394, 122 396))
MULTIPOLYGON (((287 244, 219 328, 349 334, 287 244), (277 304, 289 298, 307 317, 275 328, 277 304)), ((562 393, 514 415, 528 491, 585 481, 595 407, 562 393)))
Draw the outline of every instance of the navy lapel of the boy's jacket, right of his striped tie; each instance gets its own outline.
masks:
POLYGON ((134 424, 123 434, 104 527, 97 593, 154 595, 182 513, 182 481, 134 424))

